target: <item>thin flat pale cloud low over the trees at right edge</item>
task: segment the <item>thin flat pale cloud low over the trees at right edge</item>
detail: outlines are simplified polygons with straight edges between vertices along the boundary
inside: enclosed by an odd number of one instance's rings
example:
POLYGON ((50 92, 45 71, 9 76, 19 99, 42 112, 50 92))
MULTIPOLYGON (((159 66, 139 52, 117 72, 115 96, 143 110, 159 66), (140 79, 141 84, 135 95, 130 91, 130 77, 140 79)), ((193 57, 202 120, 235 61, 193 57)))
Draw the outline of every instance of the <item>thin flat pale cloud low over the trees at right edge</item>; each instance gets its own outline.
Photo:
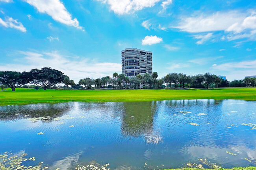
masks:
POLYGON ((220 64, 218 66, 214 66, 214 69, 230 71, 234 69, 256 69, 256 60, 248 60, 241 62, 228 62, 224 64, 220 64))

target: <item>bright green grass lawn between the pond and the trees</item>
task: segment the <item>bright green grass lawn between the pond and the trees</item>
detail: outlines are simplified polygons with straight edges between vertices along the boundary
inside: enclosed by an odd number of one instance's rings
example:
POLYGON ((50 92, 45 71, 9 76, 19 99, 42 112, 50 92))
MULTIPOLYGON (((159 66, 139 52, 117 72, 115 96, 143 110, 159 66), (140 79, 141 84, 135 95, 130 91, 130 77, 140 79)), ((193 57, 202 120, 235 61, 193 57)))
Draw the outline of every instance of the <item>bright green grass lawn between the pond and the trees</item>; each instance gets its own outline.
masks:
POLYGON ((256 88, 219 88, 189 90, 34 90, 17 88, 0 91, 0 105, 39 102, 121 102, 169 99, 242 99, 256 100, 256 88))

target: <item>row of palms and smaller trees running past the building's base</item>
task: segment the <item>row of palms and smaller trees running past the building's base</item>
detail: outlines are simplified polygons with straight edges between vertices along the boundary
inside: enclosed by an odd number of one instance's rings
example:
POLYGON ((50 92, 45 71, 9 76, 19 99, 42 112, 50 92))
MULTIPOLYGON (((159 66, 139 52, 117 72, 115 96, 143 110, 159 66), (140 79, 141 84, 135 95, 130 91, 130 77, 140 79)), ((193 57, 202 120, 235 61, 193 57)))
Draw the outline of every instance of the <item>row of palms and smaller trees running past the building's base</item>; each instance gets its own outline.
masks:
POLYGON ((128 77, 124 74, 113 73, 112 77, 106 76, 101 79, 90 79, 85 78, 79 80, 78 84, 83 87, 83 89, 91 89, 94 85, 95 88, 108 87, 112 85, 112 88, 141 88, 141 84, 146 88, 161 88, 164 83, 167 84, 167 88, 177 88, 180 85, 180 88, 189 88, 189 85, 192 85, 195 88, 204 87, 202 84, 206 84, 207 88, 211 84, 214 84, 214 87, 218 87, 218 84, 221 84, 222 79, 217 75, 211 73, 198 74, 198 75, 186 75, 184 73, 169 73, 161 79, 158 78, 158 73, 153 72, 152 75, 145 73, 142 75, 137 75, 135 77, 128 77))

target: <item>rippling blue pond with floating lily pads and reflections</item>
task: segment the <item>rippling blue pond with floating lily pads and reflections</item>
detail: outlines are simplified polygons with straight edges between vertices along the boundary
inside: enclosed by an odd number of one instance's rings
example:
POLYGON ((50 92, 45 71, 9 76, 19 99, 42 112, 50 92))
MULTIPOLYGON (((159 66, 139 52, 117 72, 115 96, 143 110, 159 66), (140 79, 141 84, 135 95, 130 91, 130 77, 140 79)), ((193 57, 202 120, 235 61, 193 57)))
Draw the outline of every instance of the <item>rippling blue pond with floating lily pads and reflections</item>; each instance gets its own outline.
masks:
MULTIPOLYGON (((0 106, 0 153, 74 169, 255 166, 256 102, 171 100, 0 106), (215 164, 214 164, 215 165, 215 164)), ((30 160, 31 161, 31 160, 30 160)), ((23 163, 22 163, 23 164, 23 163)), ((33 165, 33 166, 34 166, 33 165)))

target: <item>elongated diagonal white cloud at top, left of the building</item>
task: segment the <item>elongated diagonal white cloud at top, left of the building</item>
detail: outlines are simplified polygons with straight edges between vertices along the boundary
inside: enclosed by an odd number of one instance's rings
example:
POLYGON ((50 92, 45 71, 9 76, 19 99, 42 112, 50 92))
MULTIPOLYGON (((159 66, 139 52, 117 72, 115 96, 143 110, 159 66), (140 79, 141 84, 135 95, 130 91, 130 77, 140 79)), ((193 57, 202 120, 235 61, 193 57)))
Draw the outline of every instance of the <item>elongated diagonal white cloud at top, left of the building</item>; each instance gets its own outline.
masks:
POLYGON ((74 26, 82 29, 76 18, 72 19, 71 14, 67 11, 60 0, 25 0, 28 4, 34 6, 40 13, 46 13, 57 22, 74 26))

